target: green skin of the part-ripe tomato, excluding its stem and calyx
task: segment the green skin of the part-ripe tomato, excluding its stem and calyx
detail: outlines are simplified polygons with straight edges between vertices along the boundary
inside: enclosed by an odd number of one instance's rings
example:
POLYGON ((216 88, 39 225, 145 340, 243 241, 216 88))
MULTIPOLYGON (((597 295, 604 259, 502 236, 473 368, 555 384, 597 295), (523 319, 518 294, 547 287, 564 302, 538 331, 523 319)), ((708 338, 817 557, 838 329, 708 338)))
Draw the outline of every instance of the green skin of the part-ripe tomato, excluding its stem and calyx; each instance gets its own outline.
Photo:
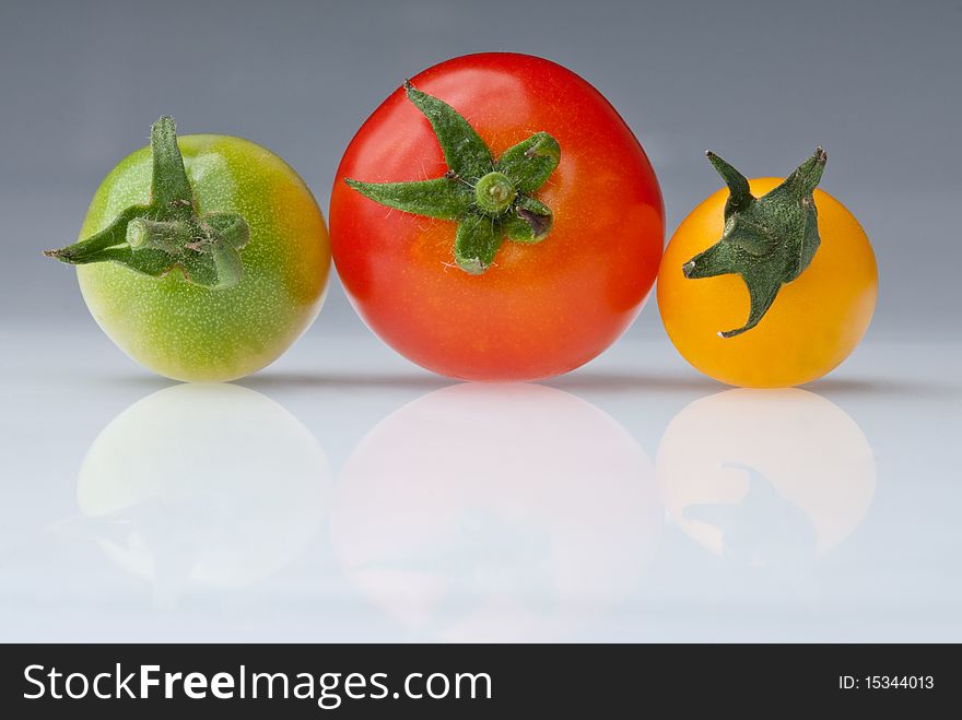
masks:
MULTIPOLYGON (((78 267, 84 300, 130 357, 177 380, 232 380, 280 356, 324 302, 330 246, 310 190, 280 157, 225 135, 178 138, 199 211, 236 212, 250 226, 244 274, 225 290, 178 272, 154 279, 103 262, 78 267)), ((104 179, 80 237, 150 199, 152 156, 143 147, 104 179)))

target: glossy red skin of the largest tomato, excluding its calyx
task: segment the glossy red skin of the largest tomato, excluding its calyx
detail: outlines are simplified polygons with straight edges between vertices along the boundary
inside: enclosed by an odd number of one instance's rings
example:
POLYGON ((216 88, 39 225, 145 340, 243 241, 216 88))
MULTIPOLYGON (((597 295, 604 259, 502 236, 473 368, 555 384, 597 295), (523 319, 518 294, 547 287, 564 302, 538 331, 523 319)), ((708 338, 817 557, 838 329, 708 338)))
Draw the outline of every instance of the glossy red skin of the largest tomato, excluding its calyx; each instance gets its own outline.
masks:
POLYGON ((345 178, 421 180, 447 169, 424 116, 398 88, 351 141, 331 196, 331 248, 352 304, 385 342, 449 377, 530 380, 572 370, 632 322, 664 243, 657 179, 614 108, 573 72, 514 54, 448 60, 411 79, 451 105, 498 156, 537 131, 561 163, 536 197, 554 213, 540 244, 505 241, 470 275, 456 224, 390 210, 345 178))

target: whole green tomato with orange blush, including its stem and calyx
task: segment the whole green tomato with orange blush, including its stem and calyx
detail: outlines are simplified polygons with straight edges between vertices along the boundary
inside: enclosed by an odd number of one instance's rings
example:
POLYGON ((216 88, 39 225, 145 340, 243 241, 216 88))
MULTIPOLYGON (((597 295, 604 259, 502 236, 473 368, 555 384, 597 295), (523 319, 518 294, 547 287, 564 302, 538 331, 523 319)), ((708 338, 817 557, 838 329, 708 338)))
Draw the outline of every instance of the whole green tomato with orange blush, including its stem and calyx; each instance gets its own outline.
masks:
POLYGON ((162 118, 152 145, 153 153, 144 147, 122 160, 87 210, 81 238, 110 239, 86 253, 80 243, 49 255, 78 264, 91 314, 142 365, 177 380, 254 373, 320 310, 330 268, 324 216, 297 174, 253 142, 177 139, 173 121, 162 118), (165 121, 168 155, 159 157, 165 121), (178 177, 179 196, 162 185, 176 186, 178 177), (236 238, 228 234, 235 223, 243 226, 236 238), (218 245, 222 229, 227 239, 218 245))

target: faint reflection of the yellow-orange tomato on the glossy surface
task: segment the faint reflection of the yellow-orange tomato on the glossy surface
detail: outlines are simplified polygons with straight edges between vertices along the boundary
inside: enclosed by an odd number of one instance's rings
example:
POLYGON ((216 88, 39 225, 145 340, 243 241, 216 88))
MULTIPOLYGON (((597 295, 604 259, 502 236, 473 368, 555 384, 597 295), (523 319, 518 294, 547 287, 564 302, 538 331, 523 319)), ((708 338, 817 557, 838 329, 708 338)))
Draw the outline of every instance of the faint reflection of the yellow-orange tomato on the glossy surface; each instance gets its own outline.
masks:
POLYGON ((825 553, 861 522, 876 489, 872 450, 855 421, 796 389, 691 403, 665 430, 657 474, 671 519, 748 565, 825 553))

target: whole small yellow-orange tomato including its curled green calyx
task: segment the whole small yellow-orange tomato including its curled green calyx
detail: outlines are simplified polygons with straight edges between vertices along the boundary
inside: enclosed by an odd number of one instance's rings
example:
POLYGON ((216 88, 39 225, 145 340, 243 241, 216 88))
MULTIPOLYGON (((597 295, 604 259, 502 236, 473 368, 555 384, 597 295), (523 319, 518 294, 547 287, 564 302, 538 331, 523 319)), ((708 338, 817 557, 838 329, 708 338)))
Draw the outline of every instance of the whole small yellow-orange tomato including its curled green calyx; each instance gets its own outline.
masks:
POLYGON ((711 157, 737 192, 723 189, 702 202, 665 250, 658 308, 668 337, 722 382, 816 380, 868 329, 878 294, 871 245, 841 202, 813 189, 825 164, 821 150, 789 176, 791 184, 807 177, 797 197, 783 194, 782 178, 744 180, 711 157))

